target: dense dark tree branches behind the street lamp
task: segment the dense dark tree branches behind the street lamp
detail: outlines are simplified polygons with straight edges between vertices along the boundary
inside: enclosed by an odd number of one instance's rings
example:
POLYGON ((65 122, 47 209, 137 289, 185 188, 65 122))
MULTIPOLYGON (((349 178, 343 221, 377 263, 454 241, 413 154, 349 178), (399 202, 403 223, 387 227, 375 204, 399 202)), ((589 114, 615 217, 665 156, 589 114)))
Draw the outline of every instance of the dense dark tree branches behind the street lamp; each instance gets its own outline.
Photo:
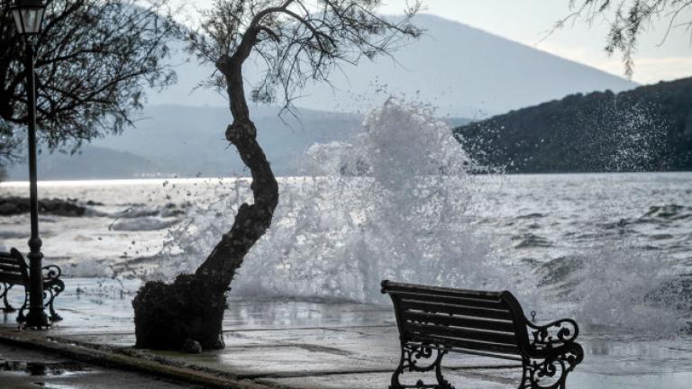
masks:
MULTIPOLYGON (((37 39, 37 124, 49 148, 76 150, 119 133, 141 108, 145 87, 175 81, 168 44, 180 32, 168 0, 48 0, 37 39)), ((0 3, 0 165, 16 157, 27 122, 25 45, 0 3)))

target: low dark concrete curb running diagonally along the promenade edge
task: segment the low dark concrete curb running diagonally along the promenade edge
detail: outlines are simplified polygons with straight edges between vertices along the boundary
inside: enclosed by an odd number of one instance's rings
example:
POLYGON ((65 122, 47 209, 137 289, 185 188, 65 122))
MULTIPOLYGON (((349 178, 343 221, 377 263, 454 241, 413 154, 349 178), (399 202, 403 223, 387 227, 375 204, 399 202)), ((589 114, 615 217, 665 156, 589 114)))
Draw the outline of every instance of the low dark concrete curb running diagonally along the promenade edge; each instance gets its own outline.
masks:
POLYGON ((259 384, 236 375, 212 369, 186 365, 144 350, 113 348, 82 343, 50 336, 43 331, 0 329, 0 343, 19 348, 45 351, 97 366, 114 367, 130 372, 156 375, 190 384, 201 384, 219 389, 271 389, 274 385, 259 384))

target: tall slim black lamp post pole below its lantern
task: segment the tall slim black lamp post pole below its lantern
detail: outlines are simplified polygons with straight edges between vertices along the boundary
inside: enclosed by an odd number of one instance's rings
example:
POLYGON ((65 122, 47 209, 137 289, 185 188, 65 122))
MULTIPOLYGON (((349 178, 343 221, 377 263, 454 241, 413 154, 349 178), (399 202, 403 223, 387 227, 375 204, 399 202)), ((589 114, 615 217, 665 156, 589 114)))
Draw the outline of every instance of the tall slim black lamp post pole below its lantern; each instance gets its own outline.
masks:
POLYGON ((31 202, 32 237, 29 239, 29 313, 26 326, 41 329, 48 327, 48 316, 43 311, 43 272, 41 270, 41 245, 39 238, 39 195, 36 174, 36 79, 34 48, 31 38, 26 40, 26 91, 29 107, 29 192, 31 202))

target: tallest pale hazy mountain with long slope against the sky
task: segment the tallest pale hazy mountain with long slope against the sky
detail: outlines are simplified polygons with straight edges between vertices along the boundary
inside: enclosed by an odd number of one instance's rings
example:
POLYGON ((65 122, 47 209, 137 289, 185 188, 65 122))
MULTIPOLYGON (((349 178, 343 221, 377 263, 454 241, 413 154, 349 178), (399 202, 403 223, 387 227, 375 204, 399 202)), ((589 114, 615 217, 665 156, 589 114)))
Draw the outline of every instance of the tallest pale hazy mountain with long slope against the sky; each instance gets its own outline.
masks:
MULTIPOLYGON (((307 86, 296 104, 305 108, 367 113, 390 94, 407 95, 438 107, 440 115, 483 118, 540 104, 565 95, 615 92, 637 86, 622 77, 561 59, 541 50, 467 25, 422 14, 415 23, 426 32, 393 53, 358 66, 342 64, 332 72, 332 87, 307 86)), ((193 88, 212 68, 185 63, 178 55, 178 85, 150 94, 151 104, 222 106, 222 96, 193 88)), ((254 61, 246 63, 246 90, 258 79, 254 61)))

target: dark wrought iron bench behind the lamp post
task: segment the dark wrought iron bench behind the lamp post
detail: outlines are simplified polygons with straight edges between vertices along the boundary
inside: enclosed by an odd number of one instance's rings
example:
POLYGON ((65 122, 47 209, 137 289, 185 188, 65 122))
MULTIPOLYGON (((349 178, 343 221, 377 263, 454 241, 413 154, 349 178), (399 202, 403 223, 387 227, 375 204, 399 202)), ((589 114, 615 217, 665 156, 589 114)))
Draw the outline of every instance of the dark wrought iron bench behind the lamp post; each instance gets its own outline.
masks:
MULTIPOLYGON (((56 265, 43 267, 43 293, 44 300, 48 298, 45 306, 49 309, 50 321, 60 321, 62 318, 53 308, 53 300, 65 290, 65 283, 60 279, 60 268, 56 265)), ((14 312, 14 307, 7 301, 7 293, 14 285, 24 286, 24 302, 19 309, 17 321, 23 322, 25 319, 24 311, 29 303, 29 267, 26 265, 22 253, 17 249, 10 252, 0 251, 0 298, 5 303, 5 312, 14 312)))

